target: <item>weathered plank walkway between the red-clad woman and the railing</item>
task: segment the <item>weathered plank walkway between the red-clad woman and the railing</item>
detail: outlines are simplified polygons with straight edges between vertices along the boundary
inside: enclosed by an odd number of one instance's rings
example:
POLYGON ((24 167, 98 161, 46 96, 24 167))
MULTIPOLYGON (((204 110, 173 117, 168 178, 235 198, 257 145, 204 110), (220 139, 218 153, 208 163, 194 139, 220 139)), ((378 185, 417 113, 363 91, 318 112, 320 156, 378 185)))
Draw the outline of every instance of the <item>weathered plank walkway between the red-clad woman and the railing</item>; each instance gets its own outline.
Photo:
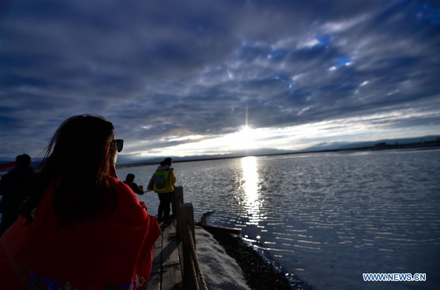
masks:
MULTIPOLYGON (((183 271, 176 235, 176 220, 162 229, 153 247, 153 266, 148 290, 183 289, 183 271)), ((182 253, 180 253, 182 255, 182 253)))

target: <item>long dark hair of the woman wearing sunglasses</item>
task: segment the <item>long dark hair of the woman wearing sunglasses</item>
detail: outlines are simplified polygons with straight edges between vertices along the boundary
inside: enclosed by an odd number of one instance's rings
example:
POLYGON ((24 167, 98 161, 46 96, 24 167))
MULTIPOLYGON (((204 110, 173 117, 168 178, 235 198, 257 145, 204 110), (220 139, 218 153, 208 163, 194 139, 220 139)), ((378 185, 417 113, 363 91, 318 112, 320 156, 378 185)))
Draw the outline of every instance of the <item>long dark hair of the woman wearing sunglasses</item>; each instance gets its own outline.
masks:
POLYGON ((64 121, 46 148, 35 191, 22 206, 27 222, 49 186, 60 225, 93 218, 115 201, 107 179, 113 139, 113 124, 103 117, 84 114, 64 121))

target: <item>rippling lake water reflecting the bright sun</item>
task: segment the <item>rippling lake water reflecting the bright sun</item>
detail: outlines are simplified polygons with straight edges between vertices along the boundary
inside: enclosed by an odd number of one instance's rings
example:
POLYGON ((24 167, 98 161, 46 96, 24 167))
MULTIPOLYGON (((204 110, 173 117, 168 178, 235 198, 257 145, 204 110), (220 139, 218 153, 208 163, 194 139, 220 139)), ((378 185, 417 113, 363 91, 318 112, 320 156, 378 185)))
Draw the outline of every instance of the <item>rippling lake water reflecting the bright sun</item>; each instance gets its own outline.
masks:
MULTIPOLYGON (((194 217, 240 228, 316 290, 439 289, 440 151, 244 157, 173 164, 194 217), (364 282, 362 273, 426 273, 364 282)), ((118 169, 146 186, 156 166, 118 169)), ((157 214, 155 193, 139 196, 157 214)))

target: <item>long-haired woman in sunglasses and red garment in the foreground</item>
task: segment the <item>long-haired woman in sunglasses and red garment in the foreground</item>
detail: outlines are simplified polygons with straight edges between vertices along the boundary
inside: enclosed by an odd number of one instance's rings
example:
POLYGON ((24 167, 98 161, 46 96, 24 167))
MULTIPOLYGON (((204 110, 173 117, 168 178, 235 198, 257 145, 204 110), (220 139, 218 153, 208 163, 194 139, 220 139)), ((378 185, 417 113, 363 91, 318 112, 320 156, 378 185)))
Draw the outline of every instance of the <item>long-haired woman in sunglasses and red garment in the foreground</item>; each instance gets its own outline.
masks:
POLYGON ((0 238, 0 289, 146 289, 161 231, 116 178, 122 147, 102 117, 58 128, 31 197, 0 238))

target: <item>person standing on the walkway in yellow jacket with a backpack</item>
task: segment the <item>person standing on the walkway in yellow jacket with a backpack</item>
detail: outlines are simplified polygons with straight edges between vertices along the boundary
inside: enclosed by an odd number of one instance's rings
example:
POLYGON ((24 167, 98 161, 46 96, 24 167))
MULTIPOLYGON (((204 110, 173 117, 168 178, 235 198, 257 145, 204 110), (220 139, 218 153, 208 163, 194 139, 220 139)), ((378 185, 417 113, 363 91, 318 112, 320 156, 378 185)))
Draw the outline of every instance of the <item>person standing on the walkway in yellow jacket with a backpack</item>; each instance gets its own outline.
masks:
POLYGON ((154 190, 159 197, 159 209, 158 209, 158 222, 169 223, 169 212, 171 196, 174 192, 174 183, 176 183, 176 177, 174 176, 174 168, 171 168, 173 160, 170 157, 165 158, 161 162, 161 166, 158 167, 156 172, 148 183, 147 190, 154 190), (163 216, 162 216, 163 214, 163 216))

